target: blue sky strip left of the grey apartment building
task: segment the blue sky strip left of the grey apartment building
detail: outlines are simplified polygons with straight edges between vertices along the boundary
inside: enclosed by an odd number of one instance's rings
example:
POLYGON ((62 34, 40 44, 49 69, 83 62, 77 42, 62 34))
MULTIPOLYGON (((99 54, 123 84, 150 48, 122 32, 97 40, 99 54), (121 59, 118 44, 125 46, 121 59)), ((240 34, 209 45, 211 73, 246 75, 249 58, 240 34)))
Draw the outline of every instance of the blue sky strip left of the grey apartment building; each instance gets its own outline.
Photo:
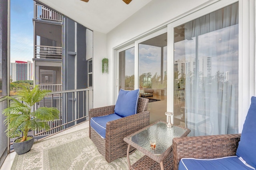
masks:
POLYGON ((33 0, 10 1, 10 61, 32 61, 33 0))

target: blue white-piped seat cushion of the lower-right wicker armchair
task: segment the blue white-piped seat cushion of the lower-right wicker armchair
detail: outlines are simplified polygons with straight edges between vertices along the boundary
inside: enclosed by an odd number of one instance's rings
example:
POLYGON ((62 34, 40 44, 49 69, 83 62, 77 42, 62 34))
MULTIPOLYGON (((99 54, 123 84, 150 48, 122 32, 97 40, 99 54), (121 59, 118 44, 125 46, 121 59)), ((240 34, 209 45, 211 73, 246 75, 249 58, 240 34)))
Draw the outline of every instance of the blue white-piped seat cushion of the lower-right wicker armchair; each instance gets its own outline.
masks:
POLYGON ((215 159, 182 158, 179 170, 252 170, 238 156, 215 159))

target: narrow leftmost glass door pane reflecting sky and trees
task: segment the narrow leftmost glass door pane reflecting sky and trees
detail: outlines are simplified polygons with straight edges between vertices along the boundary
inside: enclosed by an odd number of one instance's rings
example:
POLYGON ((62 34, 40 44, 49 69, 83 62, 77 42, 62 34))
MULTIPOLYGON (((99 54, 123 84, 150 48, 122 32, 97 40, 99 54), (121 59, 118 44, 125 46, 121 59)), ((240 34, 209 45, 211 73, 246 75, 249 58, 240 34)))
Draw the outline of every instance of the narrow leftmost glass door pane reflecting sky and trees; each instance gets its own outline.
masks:
POLYGON ((119 69, 119 90, 134 90, 134 47, 119 52, 119 69))

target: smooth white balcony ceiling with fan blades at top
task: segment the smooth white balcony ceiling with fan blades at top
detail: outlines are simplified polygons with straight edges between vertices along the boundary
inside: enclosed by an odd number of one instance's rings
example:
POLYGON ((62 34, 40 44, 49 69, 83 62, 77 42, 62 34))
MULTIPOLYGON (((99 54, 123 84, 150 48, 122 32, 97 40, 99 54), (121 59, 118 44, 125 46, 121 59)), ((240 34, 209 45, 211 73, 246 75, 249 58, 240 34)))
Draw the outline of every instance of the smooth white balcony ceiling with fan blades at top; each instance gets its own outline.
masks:
POLYGON ((83 26, 105 34, 150 1, 132 0, 127 5, 122 0, 38 0, 83 26))

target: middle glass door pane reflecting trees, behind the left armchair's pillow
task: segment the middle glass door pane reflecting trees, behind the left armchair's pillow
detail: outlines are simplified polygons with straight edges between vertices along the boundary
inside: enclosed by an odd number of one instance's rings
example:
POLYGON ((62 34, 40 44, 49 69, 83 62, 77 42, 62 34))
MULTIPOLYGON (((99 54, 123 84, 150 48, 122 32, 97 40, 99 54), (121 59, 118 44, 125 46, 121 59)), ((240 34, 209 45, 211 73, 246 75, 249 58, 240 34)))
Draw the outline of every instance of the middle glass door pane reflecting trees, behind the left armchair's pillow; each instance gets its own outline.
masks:
POLYGON ((150 122, 166 121, 167 33, 138 44, 140 96, 149 99, 150 122))

